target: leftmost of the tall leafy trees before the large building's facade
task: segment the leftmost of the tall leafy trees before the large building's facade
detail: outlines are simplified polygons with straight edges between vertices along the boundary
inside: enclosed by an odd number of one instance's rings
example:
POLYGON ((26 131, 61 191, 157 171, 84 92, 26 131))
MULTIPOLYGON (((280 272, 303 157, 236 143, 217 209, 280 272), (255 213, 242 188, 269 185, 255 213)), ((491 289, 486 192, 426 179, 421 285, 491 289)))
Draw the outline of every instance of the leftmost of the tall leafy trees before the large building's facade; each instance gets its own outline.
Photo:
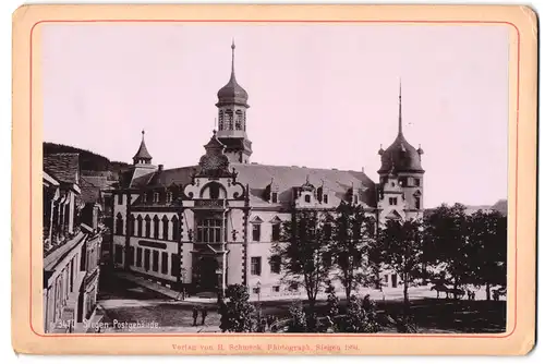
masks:
POLYGON ((331 270, 330 221, 327 213, 296 211, 291 221, 282 223, 280 242, 271 248, 272 256, 280 258, 282 280, 290 286, 303 286, 311 310, 331 270))

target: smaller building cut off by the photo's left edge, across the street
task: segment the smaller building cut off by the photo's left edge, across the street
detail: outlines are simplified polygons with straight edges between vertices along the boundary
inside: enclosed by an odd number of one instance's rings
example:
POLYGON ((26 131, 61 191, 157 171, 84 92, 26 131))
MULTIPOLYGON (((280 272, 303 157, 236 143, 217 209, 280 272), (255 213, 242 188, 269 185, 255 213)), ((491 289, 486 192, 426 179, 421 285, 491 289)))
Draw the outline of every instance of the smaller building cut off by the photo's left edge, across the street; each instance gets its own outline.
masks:
POLYGON ((84 332, 98 293, 100 201, 82 183, 77 154, 44 156, 43 175, 44 331, 84 332))

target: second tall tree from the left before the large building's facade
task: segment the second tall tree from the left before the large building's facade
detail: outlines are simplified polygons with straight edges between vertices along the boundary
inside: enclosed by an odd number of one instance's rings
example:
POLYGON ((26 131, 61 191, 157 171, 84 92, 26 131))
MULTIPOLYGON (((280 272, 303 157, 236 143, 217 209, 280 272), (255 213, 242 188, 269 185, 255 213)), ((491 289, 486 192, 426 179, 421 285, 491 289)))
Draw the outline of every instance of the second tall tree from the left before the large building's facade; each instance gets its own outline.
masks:
POLYGON ((372 271, 365 259, 366 250, 375 234, 375 219, 366 216, 360 205, 344 202, 337 207, 334 222, 334 241, 331 253, 337 277, 344 287, 347 298, 359 286, 372 282, 372 271))

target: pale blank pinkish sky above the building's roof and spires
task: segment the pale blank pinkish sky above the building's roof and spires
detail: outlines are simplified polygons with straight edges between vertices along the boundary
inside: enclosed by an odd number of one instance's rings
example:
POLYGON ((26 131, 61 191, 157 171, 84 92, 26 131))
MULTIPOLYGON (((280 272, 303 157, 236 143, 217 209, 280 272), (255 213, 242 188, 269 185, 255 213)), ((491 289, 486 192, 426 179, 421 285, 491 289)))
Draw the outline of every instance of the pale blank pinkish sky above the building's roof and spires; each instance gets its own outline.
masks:
POLYGON ((397 135, 424 149, 426 207, 507 197, 508 27, 370 24, 46 24, 44 138, 132 162, 193 166, 235 74, 251 161, 364 169, 397 135))

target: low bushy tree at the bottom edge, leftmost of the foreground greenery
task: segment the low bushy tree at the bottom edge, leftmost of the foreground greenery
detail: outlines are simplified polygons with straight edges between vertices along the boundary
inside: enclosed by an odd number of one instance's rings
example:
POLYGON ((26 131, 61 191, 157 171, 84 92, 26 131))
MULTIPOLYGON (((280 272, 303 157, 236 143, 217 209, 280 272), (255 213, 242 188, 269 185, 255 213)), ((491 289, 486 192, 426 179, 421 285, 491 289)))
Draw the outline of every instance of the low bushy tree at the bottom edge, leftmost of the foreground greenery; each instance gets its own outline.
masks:
POLYGON ((247 289, 241 284, 227 288, 226 301, 220 301, 220 329, 231 332, 252 332, 255 329, 254 306, 250 303, 247 289))

